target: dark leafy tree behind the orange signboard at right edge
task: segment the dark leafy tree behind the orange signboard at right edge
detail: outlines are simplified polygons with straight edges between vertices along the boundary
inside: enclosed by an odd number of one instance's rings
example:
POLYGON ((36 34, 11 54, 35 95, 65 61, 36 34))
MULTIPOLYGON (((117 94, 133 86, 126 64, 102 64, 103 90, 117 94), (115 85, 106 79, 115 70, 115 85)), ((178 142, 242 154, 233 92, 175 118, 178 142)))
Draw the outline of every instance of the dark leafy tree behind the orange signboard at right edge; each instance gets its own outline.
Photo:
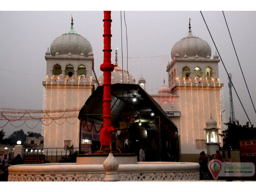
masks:
POLYGON ((256 128, 253 125, 250 127, 249 122, 245 125, 240 125, 239 122, 228 122, 228 128, 222 131, 221 137, 224 137, 225 143, 223 149, 239 149, 241 140, 256 139, 256 128))

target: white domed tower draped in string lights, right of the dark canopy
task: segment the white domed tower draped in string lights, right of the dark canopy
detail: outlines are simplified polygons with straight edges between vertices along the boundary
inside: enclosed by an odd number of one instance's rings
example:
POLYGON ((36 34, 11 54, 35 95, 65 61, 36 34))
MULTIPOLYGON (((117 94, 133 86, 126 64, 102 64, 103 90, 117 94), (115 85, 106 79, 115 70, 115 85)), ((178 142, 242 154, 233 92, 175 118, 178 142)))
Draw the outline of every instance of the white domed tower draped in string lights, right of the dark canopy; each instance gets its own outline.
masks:
POLYGON ((171 50, 172 61, 166 69, 168 86, 161 86, 159 95, 151 95, 178 128, 182 162, 198 162, 200 152, 206 152, 204 127, 211 114, 221 127, 220 60, 211 54, 210 45, 193 36, 189 20, 188 36, 171 50))

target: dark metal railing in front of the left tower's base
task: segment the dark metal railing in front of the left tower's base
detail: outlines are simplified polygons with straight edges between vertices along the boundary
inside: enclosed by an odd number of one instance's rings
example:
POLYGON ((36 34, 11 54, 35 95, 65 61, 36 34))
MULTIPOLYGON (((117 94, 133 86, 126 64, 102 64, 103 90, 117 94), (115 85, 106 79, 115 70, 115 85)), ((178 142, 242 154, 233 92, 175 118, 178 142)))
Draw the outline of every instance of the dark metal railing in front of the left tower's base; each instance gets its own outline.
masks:
MULTIPOLYGON (((74 148, 74 152, 79 148, 74 148)), ((26 155, 45 155, 46 163, 58 163, 69 155, 68 148, 23 148, 22 157, 26 155)))

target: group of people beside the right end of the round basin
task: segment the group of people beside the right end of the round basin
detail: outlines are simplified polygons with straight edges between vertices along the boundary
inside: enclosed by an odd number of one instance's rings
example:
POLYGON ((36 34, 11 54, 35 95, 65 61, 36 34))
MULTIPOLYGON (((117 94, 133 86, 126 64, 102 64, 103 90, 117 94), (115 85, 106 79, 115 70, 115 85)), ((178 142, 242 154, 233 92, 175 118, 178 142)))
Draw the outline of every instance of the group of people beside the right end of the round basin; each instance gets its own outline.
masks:
MULTIPOLYGON (((214 159, 218 159, 221 162, 223 161, 222 155, 220 154, 220 151, 216 151, 216 155, 214 159)), ((205 155, 205 152, 202 151, 199 156, 199 164, 200 164, 200 180, 204 179, 211 179, 211 174, 208 170, 208 157, 205 155)))

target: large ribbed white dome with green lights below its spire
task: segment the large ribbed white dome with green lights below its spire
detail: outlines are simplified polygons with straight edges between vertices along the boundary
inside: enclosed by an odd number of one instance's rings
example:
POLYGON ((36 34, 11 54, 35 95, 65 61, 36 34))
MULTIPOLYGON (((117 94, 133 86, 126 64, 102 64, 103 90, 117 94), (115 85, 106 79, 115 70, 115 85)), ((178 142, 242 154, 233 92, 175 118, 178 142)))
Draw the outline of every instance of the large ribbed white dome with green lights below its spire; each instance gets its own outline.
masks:
POLYGON ((69 53, 72 55, 83 53, 85 57, 88 57, 88 54, 92 52, 92 46, 86 38, 76 33, 72 20, 68 32, 52 41, 50 51, 52 56, 58 52, 59 56, 68 56, 69 53))

